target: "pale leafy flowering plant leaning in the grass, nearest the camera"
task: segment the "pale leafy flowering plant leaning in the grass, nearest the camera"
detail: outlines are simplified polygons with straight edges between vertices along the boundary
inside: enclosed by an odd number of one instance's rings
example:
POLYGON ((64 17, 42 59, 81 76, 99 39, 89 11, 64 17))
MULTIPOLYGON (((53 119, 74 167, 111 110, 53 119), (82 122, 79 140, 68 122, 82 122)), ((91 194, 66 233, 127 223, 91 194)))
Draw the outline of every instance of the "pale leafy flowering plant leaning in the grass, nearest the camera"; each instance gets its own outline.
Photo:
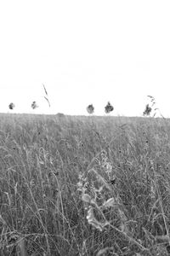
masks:
MULTIPOLYGON (((105 177, 92 168, 88 171, 88 175, 91 178, 93 176, 94 180, 92 181, 90 178, 88 181, 88 177, 81 174, 77 183, 77 190, 82 193, 82 201, 87 211, 88 224, 100 232, 113 229, 142 252, 149 252, 140 241, 133 239, 131 224, 134 224, 135 221, 127 218, 125 208, 116 193, 116 175, 105 151, 101 153, 101 165, 105 171, 105 177)), ((112 250, 112 248, 103 248, 97 255, 112 250)))

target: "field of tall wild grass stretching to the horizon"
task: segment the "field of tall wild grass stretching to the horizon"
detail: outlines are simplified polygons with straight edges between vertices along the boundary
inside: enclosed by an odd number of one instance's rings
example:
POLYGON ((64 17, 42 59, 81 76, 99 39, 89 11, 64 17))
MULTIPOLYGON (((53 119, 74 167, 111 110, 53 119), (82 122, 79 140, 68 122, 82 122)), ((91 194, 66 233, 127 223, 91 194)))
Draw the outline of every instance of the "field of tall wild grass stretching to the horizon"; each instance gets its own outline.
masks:
POLYGON ((0 255, 170 255, 170 121, 0 114, 0 255))

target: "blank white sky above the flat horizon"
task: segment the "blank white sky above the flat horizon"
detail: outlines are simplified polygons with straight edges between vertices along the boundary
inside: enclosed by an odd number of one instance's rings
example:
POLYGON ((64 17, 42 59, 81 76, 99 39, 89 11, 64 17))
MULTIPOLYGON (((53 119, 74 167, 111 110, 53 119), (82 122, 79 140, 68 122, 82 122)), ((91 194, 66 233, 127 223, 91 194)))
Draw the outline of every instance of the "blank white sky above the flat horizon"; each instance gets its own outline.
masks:
POLYGON ((102 115, 110 101, 140 116, 151 95, 169 117, 169 12, 169 0, 0 1, 0 112, 102 115))

